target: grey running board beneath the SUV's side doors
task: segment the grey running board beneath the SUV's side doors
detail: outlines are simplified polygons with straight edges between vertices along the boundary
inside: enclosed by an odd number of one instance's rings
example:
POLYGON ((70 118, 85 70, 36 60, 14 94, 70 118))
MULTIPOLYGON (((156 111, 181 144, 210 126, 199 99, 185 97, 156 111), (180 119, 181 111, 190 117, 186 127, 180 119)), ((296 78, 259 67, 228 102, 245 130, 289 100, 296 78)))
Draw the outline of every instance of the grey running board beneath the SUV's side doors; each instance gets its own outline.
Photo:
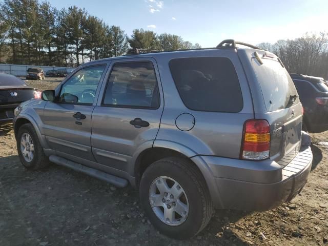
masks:
POLYGON ((49 160, 51 162, 56 163, 57 165, 64 166, 64 167, 73 169, 77 172, 85 173, 85 174, 90 175, 92 177, 95 177, 95 178, 104 180, 106 182, 112 183, 114 186, 117 186, 117 187, 120 187, 120 188, 126 187, 128 185, 128 180, 126 180, 124 178, 116 177, 116 176, 113 176, 111 174, 101 172, 97 169, 93 169, 93 168, 89 168, 89 167, 80 165, 76 162, 67 160, 63 157, 59 157, 59 156, 56 156, 56 155, 51 155, 49 157, 49 160))

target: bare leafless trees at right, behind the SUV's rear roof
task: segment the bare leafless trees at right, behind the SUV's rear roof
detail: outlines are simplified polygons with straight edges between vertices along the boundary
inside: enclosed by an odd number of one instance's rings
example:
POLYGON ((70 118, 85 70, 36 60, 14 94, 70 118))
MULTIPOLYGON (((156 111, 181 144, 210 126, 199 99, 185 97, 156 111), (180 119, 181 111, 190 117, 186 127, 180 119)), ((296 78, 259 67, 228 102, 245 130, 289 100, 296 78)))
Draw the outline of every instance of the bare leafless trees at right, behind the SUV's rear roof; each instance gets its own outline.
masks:
POLYGON ((305 34, 302 37, 258 45, 278 57, 290 73, 328 78, 328 34, 305 34))

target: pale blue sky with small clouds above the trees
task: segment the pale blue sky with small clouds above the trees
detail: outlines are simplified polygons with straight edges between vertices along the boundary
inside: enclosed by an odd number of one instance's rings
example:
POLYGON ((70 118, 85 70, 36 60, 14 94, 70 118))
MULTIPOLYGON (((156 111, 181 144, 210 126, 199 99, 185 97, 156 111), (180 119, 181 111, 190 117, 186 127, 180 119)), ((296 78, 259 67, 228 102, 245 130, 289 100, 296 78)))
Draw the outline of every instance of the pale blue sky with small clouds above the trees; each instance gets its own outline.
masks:
POLYGON ((144 28, 214 47, 232 38, 251 44, 328 32, 328 0, 50 0, 76 5, 131 35, 144 28))

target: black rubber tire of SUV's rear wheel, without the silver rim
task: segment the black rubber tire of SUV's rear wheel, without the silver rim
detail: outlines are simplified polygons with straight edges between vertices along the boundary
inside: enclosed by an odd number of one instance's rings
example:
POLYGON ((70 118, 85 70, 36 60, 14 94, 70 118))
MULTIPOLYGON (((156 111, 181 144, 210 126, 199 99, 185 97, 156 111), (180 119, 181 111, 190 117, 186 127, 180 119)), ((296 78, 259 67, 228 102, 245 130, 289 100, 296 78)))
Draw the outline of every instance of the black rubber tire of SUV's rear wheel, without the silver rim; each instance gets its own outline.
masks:
POLYGON ((191 161, 182 158, 165 158, 150 165, 141 177, 140 201, 153 226, 162 234, 176 239, 195 236, 203 230, 213 215, 213 203, 206 181, 191 161), (176 180, 185 191, 189 202, 189 213, 185 222, 170 226, 162 222, 154 213, 149 191, 152 182, 160 176, 176 180))

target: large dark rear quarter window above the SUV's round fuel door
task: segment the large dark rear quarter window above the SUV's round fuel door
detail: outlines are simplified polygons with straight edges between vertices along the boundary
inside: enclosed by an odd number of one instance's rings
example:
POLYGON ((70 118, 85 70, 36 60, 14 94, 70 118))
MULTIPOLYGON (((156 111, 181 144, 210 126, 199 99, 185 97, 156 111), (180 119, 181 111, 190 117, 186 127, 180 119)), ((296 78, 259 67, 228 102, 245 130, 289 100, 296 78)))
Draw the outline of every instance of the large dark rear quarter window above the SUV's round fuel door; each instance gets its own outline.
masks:
POLYGON ((238 76, 226 57, 172 59, 172 77, 183 103, 197 111, 237 113, 243 107, 238 76))

